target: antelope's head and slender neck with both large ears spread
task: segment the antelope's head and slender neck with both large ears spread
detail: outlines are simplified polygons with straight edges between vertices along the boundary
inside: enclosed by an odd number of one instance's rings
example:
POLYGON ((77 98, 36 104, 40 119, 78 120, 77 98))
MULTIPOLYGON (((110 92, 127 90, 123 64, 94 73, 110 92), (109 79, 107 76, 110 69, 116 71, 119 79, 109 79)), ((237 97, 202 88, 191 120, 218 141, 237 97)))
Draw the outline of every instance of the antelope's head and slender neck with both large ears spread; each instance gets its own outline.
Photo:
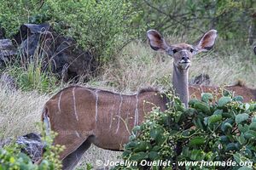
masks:
POLYGON ((147 32, 150 47, 154 50, 165 51, 173 58, 172 84, 176 94, 179 95, 184 105, 189 102, 188 71, 191 59, 195 54, 212 49, 217 37, 216 30, 207 31, 194 45, 188 43, 177 43, 169 45, 158 31, 147 32))

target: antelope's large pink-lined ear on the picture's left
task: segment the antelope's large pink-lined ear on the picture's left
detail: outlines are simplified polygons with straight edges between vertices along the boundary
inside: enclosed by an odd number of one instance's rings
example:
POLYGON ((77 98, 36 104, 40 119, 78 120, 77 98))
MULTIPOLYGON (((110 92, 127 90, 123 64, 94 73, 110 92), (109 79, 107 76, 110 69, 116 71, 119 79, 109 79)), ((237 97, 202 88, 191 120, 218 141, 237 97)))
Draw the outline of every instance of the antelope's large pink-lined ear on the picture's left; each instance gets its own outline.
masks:
POLYGON ((160 35, 158 31, 148 30, 147 37, 150 44, 150 47, 154 50, 165 50, 168 52, 169 46, 166 44, 164 38, 160 35))

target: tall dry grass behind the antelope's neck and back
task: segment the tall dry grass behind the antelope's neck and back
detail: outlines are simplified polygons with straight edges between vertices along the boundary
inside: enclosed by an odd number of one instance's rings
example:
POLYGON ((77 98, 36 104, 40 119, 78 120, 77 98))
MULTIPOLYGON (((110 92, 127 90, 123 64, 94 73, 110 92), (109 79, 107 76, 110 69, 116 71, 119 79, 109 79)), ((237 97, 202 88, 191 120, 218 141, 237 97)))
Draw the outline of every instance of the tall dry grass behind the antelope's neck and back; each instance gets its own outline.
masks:
MULTIPOLYGON (((183 42, 184 38, 168 38, 169 42, 183 42)), ((189 79, 206 73, 211 85, 233 85, 238 80, 250 88, 256 87, 256 57, 250 47, 236 48, 218 40, 216 47, 195 55, 189 68, 189 79), (225 48, 224 48, 225 47, 225 48)), ((97 88, 112 87, 123 93, 148 86, 168 88, 172 83, 172 57, 154 52, 148 44, 131 42, 115 61, 105 66, 102 76, 88 84, 97 88)))

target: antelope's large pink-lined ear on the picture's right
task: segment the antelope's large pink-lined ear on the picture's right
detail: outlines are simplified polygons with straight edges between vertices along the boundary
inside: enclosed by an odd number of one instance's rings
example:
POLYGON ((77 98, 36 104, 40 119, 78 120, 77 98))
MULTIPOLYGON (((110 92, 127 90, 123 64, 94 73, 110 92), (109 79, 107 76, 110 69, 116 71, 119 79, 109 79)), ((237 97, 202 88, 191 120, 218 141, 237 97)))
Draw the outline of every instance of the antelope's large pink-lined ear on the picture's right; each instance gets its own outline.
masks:
POLYGON ((218 33, 216 30, 207 31, 196 43, 195 49, 197 52, 208 51, 212 49, 218 33))

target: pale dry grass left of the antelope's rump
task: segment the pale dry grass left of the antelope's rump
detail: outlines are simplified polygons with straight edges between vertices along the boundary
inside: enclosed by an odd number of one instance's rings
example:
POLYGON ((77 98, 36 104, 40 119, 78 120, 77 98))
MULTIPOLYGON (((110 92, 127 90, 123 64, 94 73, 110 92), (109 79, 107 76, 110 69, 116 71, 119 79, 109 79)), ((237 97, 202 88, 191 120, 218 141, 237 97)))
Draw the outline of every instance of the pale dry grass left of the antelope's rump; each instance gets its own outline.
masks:
POLYGON ((24 93, 0 87, 0 139, 38 132, 35 122, 40 122, 47 99, 48 96, 36 92, 24 93))

